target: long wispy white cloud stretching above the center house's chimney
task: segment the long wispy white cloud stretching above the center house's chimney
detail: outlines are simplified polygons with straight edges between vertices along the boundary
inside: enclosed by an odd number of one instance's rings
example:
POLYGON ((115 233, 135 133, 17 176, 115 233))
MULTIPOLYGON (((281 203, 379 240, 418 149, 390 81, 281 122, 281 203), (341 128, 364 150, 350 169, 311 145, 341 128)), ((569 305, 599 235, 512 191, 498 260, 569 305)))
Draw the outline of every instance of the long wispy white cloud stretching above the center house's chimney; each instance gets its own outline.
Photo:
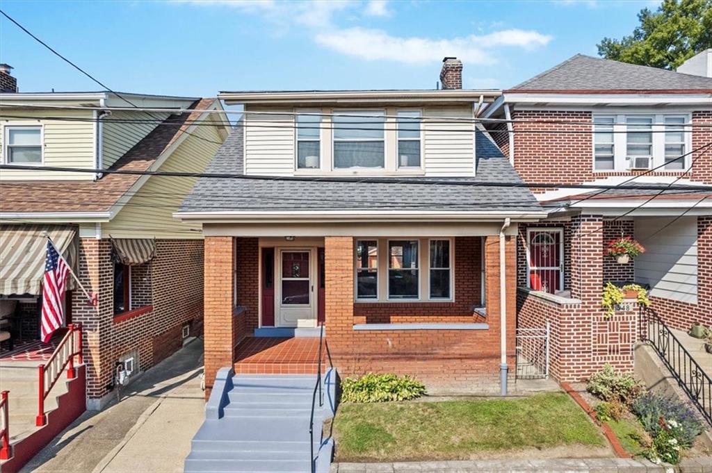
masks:
POLYGON ((498 46, 533 49, 545 46, 552 37, 536 31, 508 29, 486 35, 461 38, 400 38, 385 31, 367 28, 347 28, 318 33, 315 41, 339 53, 366 60, 394 60, 400 63, 422 64, 454 55, 468 63, 493 64, 496 56, 490 51, 498 46))

